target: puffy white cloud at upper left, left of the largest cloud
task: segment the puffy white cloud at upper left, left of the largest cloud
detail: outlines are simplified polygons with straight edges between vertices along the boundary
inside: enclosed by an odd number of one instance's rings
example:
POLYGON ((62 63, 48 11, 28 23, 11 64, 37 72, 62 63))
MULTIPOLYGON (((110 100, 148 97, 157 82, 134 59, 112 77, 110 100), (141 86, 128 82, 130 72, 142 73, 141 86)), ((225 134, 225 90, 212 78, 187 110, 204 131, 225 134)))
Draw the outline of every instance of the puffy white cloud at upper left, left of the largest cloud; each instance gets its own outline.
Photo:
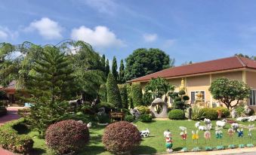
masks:
POLYGON ((43 17, 41 20, 35 20, 25 29, 25 32, 38 31, 43 38, 52 40, 62 38, 63 28, 54 20, 43 17))

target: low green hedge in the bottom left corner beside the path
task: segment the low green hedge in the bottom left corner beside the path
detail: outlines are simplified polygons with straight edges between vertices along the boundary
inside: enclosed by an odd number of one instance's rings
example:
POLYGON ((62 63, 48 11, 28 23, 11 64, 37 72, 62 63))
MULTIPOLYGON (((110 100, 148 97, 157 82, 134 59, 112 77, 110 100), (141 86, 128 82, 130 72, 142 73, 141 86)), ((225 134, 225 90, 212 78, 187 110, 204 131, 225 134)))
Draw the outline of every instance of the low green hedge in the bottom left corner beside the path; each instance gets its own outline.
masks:
POLYGON ((28 135, 19 135, 15 128, 23 125, 24 119, 14 120, 5 123, 0 127, 0 146, 14 153, 29 153, 32 150, 34 141, 28 135))

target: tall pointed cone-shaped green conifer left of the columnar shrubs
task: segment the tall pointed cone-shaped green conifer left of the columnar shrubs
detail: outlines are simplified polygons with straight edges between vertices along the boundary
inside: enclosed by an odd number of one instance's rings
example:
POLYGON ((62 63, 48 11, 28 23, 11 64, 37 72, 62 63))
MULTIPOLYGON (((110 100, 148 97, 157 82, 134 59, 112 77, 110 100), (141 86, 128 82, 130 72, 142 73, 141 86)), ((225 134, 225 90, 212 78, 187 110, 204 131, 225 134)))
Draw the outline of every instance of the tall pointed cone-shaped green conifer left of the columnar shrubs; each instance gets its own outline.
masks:
POLYGON ((122 99, 119 87, 112 73, 109 73, 106 81, 107 102, 112 103, 116 108, 122 108, 122 99))

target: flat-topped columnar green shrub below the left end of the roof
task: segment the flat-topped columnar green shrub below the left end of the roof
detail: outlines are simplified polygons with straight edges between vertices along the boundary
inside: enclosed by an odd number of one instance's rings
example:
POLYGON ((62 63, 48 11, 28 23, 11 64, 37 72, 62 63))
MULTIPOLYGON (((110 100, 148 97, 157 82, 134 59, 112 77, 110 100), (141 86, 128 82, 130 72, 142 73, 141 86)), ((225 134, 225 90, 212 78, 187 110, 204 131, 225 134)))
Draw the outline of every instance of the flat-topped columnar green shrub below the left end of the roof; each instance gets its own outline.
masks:
POLYGON ((131 84, 131 99, 134 106, 143 105, 143 94, 140 83, 131 84))

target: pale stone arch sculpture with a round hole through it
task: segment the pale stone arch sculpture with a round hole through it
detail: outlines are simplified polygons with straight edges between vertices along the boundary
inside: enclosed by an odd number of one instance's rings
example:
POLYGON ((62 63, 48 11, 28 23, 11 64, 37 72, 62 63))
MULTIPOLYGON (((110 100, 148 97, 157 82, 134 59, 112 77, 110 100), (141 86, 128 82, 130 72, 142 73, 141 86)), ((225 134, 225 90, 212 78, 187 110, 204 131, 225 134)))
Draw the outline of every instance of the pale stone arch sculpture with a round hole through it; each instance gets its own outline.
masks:
POLYGON ((152 112, 153 117, 167 118, 168 104, 166 102, 164 102, 162 99, 156 98, 156 99, 154 99, 154 101, 152 102, 152 104, 150 106, 150 111, 152 112), (157 114, 157 112, 155 111, 156 106, 162 107, 162 112, 160 114, 157 114))

